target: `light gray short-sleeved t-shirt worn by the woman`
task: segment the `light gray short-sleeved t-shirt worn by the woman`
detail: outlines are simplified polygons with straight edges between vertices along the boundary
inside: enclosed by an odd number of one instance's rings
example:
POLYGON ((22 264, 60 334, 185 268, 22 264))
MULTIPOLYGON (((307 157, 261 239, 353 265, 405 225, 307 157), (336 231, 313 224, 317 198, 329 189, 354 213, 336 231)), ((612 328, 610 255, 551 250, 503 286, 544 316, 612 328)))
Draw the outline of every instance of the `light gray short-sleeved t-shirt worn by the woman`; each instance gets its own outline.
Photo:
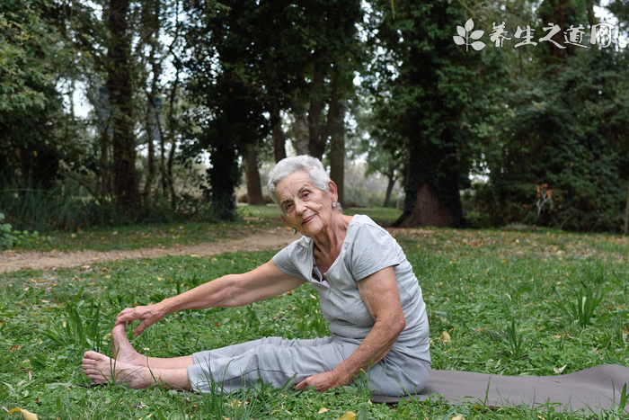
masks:
MULTIPOLYGON (((301 237, 273 257, 284 273, 309 281, 319 292, 323 317, 330 322, 332 339, 360 343, 374 326, 374 319, 360 298, 357 281, 386 267, 394 267, 406 327, 387 359, 419 359, 430 362, 426 305, 412 266, 402 247, 385 229, 367 216, 350 220, 341 253, 325 274, 314 265, 314 241, 301 237)), ((400 361, 402 362, 402 360, 400 361)))

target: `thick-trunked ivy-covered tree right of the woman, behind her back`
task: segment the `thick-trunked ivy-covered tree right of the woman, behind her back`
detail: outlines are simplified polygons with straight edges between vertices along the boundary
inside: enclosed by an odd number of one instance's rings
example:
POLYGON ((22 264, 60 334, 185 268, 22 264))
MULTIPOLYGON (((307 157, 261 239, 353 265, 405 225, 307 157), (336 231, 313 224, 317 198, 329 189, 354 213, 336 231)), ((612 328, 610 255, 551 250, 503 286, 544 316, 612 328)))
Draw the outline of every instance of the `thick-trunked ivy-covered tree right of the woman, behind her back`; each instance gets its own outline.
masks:
POLYGON ((374 8, 382 12, 372 45, 384 51, 372 68, 378 115, 403 141, 388 147, 408 150, 406 200, 394 226, 462 227, 459 190, 469 185, 465 152, 474 138, 461 116, 480 71, 478 58, 452 41, 466 21, 464 9, 446 0, 374 8))

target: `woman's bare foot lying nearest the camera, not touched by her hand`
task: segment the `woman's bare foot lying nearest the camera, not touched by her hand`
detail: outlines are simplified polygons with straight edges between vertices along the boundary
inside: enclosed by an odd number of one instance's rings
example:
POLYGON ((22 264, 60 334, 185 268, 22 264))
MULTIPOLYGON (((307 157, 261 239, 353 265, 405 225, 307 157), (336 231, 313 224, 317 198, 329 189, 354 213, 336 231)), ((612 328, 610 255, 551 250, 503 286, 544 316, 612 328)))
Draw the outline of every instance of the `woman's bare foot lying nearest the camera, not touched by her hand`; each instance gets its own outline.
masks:
POLYGON ((155 383, 155 377, 145 366, 120 362, 101 353, 85 352, 82 362, 85 376, 94 383, 126 383, 132 389, 144 389, 155 383))

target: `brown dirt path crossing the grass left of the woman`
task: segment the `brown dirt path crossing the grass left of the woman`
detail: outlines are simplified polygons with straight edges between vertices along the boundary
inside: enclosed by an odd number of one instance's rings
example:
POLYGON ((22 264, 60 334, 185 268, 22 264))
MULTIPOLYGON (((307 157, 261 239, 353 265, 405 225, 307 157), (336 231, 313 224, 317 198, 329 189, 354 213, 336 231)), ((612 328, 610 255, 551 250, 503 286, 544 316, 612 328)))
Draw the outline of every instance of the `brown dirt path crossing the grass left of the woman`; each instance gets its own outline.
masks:
POLYGON ((217 255, 237 251, 264 251, 287 246, 299 235, 286 228, 271 228, 242 239, 225 239, 192 246, 142 248, 132 251, 57 251, 57 252, 0 252, 0 273, 18 270, 49 270, 77 267, 86 264, 116 261, 125 258, 155 258, 164 255, 217 255))

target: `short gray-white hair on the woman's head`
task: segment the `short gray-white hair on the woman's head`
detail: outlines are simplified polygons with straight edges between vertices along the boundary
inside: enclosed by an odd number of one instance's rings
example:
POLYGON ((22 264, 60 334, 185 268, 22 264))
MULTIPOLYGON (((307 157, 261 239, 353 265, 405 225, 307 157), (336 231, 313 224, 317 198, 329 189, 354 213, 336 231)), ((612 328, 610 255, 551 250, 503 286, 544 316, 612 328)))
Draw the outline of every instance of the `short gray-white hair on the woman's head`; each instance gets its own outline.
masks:
MULTIPOLYGON (((323 164, 319 159, 308 155, 285 157, 278 162, 278 165, 275 165, 275 167, 271 169, 269 174, 269 183, 267 183, 267 190, 269 191, 270 199, 279 207, 279 210, 281 210, 282 213, 284 212, 284 209, 282 209, 282 206, 279 204, 278 196, 276 195, 275 190, 278 187, 278 183, 280 183, 288 175, 295 174, 296 172, 305 172, 306 174, 309 174, 310 179, 317 189, 330 193, 328 183, 332 180, 330 179, 328 173, 325 172, 323 164)), ((341 203, 337 203, 337 209, 342 211, 341 203)))

